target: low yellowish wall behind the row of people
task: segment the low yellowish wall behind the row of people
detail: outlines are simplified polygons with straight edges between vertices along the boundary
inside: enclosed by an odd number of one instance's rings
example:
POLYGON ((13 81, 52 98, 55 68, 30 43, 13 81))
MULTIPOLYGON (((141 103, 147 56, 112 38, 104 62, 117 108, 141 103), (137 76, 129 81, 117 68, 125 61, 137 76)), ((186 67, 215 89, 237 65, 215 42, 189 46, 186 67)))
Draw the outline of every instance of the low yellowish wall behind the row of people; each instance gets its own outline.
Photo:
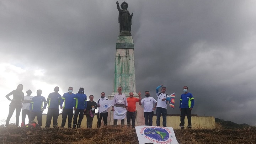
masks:
MULTIPOLYGON (((47 114, 43 114, 42 118, 42 127, 45 127, 46 123, 46 116, 47 114)), ((34 121, 37 122, 37 118, 34 119, 34 121)), ((118 123, 120 123, 121 120, 118 120, 118 123)), ((192 128, 197 129, 197 128, 205 128, 205 129, 213 129, 215 128, 215 118, 214 117, 203 117, 203 116, 192 116, 191 117, 192 121, 192 128)), ((53 123, 53 119, 52 119, 53 123)), ((51 123, 51 127, 52 127, 51 123)), ((62 123, 62 114, 59 114, 58 117, 58 126, 60 126, 62 123)), ((73 124, 73 118, 72 118, 72 124, 73 124)), ((108 123, 111 124, 111 123, 108 123)), ((126 119, 125 119, 125 124, 126 124, 126 119)), ((172 127, 174 129, 180 129, 179 127, 180 124, 180 116, 172 116, 172 115, 167 115, 167 127, 172 127)), ((187 126, 187 117, 185 117, 185 126, 187 126)), ((65 127, 68 127, 68 118, 66 120, 66 125, 65 127)), ((101 122, 101 125, 103 126, 103 119, 101 122)), ((153 126, 156 126, 156 115, 153 116, 153 126)), ((160 118, 160 126, 162 126, 162 116, 160 118)), ((81 123, 82 128, 86 128, 86 116, 84 116, 84 119, 82 120, 81 123)), ((97 128, 97 114, 95 114, 93 122, 92 122, 92 128, 97 128)))

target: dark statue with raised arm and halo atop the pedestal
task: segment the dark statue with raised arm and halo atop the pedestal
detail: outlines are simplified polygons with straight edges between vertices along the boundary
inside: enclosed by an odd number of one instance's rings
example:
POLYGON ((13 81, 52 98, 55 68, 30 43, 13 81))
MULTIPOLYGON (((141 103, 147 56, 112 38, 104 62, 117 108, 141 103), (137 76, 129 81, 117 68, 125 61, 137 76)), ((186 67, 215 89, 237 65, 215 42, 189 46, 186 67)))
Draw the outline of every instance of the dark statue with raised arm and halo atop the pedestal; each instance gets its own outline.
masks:
POLYGON ((117 4, 117 9, 119 11, 119 15, 118 15, 119 31, 120 31, 120 33, 122 31, 129 31, 129 33, 130 33, 130 31, 132 29, 133 12, 132 12, 132 15, 130 15, 130 12, 127 10, 128 4, 125 1, 122 2, 122 4, 121 4, 122 9, 120 9, 118 1, 116 2, 116 4, 117 4))

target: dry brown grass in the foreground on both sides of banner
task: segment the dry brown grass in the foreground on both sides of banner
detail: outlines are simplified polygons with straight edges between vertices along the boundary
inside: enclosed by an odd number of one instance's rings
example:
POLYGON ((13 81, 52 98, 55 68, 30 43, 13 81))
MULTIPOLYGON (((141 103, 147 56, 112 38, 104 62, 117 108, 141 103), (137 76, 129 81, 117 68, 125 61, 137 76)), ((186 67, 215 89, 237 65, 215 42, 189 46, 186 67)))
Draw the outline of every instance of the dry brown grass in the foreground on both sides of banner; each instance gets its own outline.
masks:
MULTIPOLYGON (((256 128, 178 129, 174 130, 181 144, 255 144, 256 128)), ((0 128, 1 143, 25 144, 138 144, 135 129, 105 126, 100 129, 67 128, 0 128)))

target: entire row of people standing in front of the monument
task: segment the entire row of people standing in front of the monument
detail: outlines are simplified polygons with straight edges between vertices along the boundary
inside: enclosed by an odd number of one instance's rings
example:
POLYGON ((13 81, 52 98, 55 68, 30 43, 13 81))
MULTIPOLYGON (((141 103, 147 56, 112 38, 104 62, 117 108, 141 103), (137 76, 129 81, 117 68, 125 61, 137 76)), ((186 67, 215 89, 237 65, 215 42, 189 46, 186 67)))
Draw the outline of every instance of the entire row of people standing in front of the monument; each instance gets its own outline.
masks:
MULTIPOLYGON (((126 111, 127 117, 127 126, 130 127, 130 122, 132 120, 132 127, 135 127, 136 119, 136 103, 144 106, 144 118, 145 126, 153 125, 153 115, 154 110, 156 109, 156 126, 160 126, 160 117, 162 114, 162 125, 166 127, 166 117, 167 117, 167 103, 171 100, 169 95, 165 94, 166 87, 160 85, 156 88, 156 98, 150 97, 149 91, 145 91, 145 98, 141 98, 141 93, 139 92, 139 98, 135 98, 133 92, 129 92, 129 97, 126 98, 125 94, 122 93, 122 87, 117 88, 118 93, 114 95, 113 100, 109 101, 105 97, 105 92, 101 93, 101 98, 98 101, 94 101, 94 96, 90 95, 90 101, 87 101, 87 96, 84 94, 84 88, 80 87, 77 94, 73 93, 73 87, 68 88, 68 92, 64 93, 63 96, 58 94, 59 87, 54 88, 54 92, 50 93, 47 100, 41 96, 42 90, 37 90, 37 96, 31 96, 32 91, 28 90, 27 95, 24 96, 22 92, 23 85, 20 84, 17 86, 16 90, 13 90, 6 95, 6 98, 11 101, 9 105, 9 114, 6 119, 5 126, 9 125, 10 118, 16 109, 16 126, 19 124, 19 116, 22 110, 22 123, 21 126, 25 124, 26 115, 28 116, 29 122, 32 122, 35 117, 37 117, 37 122, 39 126, 42 126, 42 112, 46 109, 48 105, 48 112, 46 117, 46 128, 50 127, 51 120, 53 118, 53 127, 58 126, 58 116, 59 116, 59 107, 62 109, 62 124, 61 127, 65 127, 66 118, 68 118, 68 128, 81 128, 81 122, 86 115, 87 119, 87 128, 92 128, 92 121, 95 116, 95 110, 97 108, 102 108, 106 101, 111 102, 112 111, 115 115, 115 110, 117 108, 124 108, 126 111), (161 92, 159 89, 161 88, 161 92), (13 95, 13 99, 10 99, 10 96, 13 95), (44 105, 44 106, 43 106, 44 105), (75 111, 75 114, 74 114, 75 111), (73 117, 74 116, 74 117, 73 117), (79 119, 77 121, 77 118, 79 119), (71 125, 73 118, 73 127, 71 125)), ((180 111, 181 111, 181 129, 184 127, 185 115, 187 114, 188 126, 191 128, 191 110, 194 106, 194 98, 191 93, 188 92, 188 87, 183 87, 184 94, 180 98, 180 111)), ((107 105, 105 105, 106 107, 107 105)), ((103 107, 103 108, 105 108, 103 107)), ((101 120, 103 118, 104 125, 107 125, 108 110, 105 108, 97 114, 97 128, 101 127, 101 120)), ((118 118, 114 118, 113 125, 117 126, 118 118)), ((121 125, 124 125, 124 118, 121 119, 121 125)))

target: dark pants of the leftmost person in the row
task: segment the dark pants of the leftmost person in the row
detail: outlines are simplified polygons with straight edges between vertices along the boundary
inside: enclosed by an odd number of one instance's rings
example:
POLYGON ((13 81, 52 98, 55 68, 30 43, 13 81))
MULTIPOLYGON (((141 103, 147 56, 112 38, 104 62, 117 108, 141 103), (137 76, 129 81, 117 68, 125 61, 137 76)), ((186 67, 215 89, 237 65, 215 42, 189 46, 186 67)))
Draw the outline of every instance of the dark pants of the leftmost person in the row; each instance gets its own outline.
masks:
POLYGON ((12 117, 12 114, 14 113, 14 110, 16 109, 16 127, 18 127, 18 123, 20 121, 20 112, 21 112, 21 108, 22 108, 22 105, 12 105, 10 104, 10 107, 9 107, 9 114, 8 114, 8 117, 6 119, 6 123, 5 123, 5 126, 9 126, 9 122, 10 122, 10 119, 12 117))

